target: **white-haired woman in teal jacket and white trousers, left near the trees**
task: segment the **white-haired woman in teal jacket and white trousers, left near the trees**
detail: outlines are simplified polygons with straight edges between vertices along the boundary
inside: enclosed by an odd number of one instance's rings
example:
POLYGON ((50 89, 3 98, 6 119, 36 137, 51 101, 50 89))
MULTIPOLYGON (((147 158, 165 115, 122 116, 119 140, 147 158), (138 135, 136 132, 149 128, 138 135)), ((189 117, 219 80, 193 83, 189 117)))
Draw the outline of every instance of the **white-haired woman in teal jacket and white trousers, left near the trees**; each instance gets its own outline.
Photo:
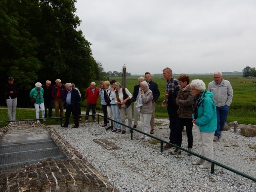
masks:
MULTIPOLYGON (((30 98, 34 98, 35 102, 34 102, 34 106, 36 108, 36 118, 38 119, 37 122, 40 123, 39 121, 39 107, 41 108, 42 111, 42 118, 44 118, 44 89, 42 88, 42 84, 37 82, 36 83, 36 87, 33 88, 30 91, 30 98)), ((46 121, 45 119, 43 121, 46 121)))

